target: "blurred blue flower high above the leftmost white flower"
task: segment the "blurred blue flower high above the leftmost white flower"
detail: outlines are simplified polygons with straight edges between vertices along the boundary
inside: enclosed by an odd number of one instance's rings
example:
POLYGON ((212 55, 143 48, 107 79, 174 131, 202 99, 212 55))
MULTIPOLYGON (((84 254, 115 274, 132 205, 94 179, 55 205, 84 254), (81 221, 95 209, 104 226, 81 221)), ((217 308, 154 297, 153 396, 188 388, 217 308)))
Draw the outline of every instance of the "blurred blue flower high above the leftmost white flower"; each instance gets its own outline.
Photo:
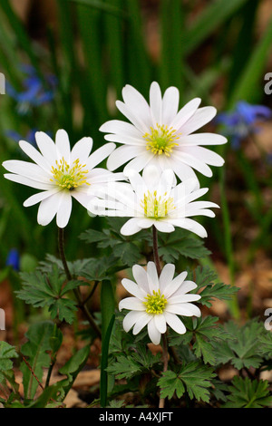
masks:
POLYGON ((37 75, 33 66, 23 65, 21 69, 25 74, 23 91, 17 92, 9 82, 6 82, 6 94, 15 99, 18 103, 18 112, 24 115, 31 106, 36 107, 53 100, 57 78, 53 74, 46 74, 44 80, 48 87, 45 88, 44 82, 37 75))

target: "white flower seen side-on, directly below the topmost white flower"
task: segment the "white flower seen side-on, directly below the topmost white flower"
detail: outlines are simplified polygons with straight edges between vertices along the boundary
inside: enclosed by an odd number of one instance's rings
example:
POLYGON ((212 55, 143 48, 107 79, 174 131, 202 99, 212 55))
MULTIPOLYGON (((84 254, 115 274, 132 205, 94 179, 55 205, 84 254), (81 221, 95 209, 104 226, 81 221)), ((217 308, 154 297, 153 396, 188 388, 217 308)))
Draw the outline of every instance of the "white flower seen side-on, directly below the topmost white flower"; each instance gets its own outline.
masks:
POLYGON ((209 208, 219 206, 210 201, 196 201, 208 191, 208 188, 199 189, 198 180, 187 179, 176 185, 172 170, 160 171, 155 166, 146 167, 142 176, 130 169, 126 176, 130 183, 112 182, 98 189, 97 197, 88 206, 92 214, 130 218, 121 228, 125 236, 154 225, 160 232, 180 227, 207 237, 205 228, 191 217, 213 218, 215 214, 209 208))

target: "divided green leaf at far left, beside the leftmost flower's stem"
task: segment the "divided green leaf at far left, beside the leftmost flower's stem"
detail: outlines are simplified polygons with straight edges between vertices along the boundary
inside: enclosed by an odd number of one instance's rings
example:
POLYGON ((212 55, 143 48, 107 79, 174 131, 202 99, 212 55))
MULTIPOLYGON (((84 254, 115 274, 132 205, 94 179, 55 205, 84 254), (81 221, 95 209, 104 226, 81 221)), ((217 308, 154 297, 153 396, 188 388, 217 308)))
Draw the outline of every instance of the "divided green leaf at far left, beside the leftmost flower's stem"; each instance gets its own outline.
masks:
POLYGON ((72 280, 65 283, 57 265, 53 265, 48 274, 36 270, 21 273, 20 276, 23 283, 22 289, 15 292, 17 297, 34 307, 47 306, 52 318, 58 317, 60 321, 73 323, 77 307, 76 303, 68 298, 68 293, 78 286, 83 286, 83 281, 72 280))

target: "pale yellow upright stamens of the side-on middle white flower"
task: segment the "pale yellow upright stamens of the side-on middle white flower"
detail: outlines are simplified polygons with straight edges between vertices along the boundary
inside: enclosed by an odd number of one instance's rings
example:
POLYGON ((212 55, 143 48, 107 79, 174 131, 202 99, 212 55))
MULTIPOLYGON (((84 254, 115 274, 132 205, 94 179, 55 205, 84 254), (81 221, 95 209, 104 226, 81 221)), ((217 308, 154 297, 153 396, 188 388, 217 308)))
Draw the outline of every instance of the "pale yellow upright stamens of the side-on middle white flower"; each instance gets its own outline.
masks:
POLYGON ((157 196, 157 191, 151 193, 148 191, 144 194, 143 200, 141 200, 141 208, 143 208, 144 216, 147 218, 165 218, 171 210, 175 209, 174 198, 166 198, 167 193, 164 195, 157 196))

